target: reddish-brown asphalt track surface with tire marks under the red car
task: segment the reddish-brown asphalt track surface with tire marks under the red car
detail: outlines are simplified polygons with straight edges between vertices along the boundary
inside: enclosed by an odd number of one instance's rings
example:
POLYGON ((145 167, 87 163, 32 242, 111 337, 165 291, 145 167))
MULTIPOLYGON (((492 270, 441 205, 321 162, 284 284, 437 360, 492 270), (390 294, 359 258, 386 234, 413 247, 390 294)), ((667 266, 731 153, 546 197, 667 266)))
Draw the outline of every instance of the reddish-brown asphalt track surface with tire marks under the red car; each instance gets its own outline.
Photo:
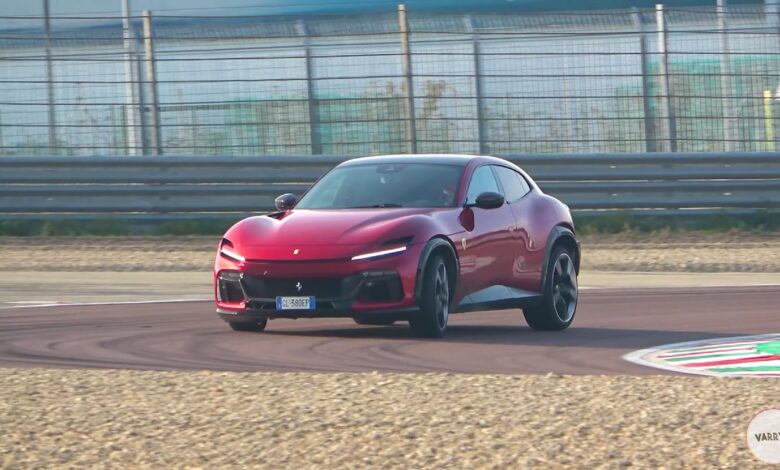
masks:
POLYGON ((450 317, 441 340, 405 323, 273 320, 234 332, 211 302, 70 305, 0 312, 0 367, 395 371, 465 373, 673 373, 627 362, 661 344, 780 332, 780 286, 585 290, 573 326, 529 329, 516 311, 450 317))

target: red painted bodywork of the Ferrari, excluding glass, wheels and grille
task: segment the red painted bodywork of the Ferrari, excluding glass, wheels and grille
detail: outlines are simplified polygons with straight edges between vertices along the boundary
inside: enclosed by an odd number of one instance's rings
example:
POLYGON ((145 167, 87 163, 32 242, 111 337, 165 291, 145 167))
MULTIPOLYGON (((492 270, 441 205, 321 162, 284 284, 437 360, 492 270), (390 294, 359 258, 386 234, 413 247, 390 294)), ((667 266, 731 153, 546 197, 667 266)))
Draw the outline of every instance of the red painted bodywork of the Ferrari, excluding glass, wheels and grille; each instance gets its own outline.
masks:
MULTIPOLYGON (((371 302, 354 300, 349 313, 402 311, 417 306, 415 286, 420 257, 433 238, 446 240, 457 254, 458 282, 452 295, 457 306, 469 295, 491 286, 507 286, 539 293, 545 253, 556 226, 573 232, 568 207, 545 195, 517 166, 498 158, 462 155, 387 156, 351 160, 356 162, 454 162, 463 167, 455 191, 454 207, 296 209, 249 217, 231 227, 224 240, 243 261, 218 250, 214 265, 215 296, 222 271, 236 271, 263 279, 295 280, 344 277, 366 271, 397 272, 403 288, 400 300, 371 302), (474 171, 484 165, 503 166, 521 174, 530 191, 513 203, 495 209, 464 207, 474 171), (382 250, 388 240, 413 237, 406 251, 376 259, 353 261, 361 253, 382 250)), ((340 165, 341 166, 341 165, 340 165)), ((316 183, 315 183, 316 184, 316 183)), ((222 246, 222 242, 220 243, 222 246)), ((218 311, 241 315, 246 300, 216 301, 218 311)), ((314 312, 328 316, 328 312, 314 312)), ((268 316, 286 316, 269 311, 268 316)), ((412 313, 413 314, 413 313, 412 313)), ((339 314, 342 316, 343 312, 339 314)))

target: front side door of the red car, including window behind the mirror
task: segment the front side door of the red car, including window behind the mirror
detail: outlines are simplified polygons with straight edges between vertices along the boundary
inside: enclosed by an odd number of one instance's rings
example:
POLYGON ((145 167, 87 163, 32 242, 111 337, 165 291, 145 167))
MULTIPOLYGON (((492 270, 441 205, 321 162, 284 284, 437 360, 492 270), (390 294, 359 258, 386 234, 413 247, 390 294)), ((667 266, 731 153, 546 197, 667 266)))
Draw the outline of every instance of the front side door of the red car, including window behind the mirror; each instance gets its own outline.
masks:
MULTIPOLYGON (((500 192, 490 165, 477 167, 466 191, 466 203, 473 204, 484 192, 500 192)), ((496 285, 506 285, 511 277, 512 258, 505 256, 513 246, 514 216, 506 204, 496 209, 466 207, 461 214, 466 228, 460 246, 461 283, 473 294, 496 285)), ((485 301, 485 296, 471 300, 485 301)))

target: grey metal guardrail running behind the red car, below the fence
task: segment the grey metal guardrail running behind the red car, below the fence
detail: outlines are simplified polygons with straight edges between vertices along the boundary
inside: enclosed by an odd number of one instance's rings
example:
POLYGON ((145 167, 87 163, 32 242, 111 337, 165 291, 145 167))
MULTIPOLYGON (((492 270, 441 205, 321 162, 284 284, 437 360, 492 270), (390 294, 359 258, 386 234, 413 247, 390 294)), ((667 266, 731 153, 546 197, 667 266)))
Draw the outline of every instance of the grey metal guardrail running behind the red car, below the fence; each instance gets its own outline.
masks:
MULTIPOLYGON (((0 157, 0 217, 173 219, 272 210, 346 157, 0 157)), ((780 153, 512 155, 576 211, 780 208, 780 153)))

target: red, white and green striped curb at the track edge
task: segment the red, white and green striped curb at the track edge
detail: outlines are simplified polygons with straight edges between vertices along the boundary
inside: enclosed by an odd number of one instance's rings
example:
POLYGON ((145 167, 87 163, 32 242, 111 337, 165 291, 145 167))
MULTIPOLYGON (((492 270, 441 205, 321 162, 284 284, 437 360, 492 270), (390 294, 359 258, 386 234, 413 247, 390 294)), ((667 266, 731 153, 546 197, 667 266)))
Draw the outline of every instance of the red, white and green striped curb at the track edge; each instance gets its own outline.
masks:
POLYGON ((647 367, 711 377, 780 377, 780 334, 666 344, 623 359, 647 367))

